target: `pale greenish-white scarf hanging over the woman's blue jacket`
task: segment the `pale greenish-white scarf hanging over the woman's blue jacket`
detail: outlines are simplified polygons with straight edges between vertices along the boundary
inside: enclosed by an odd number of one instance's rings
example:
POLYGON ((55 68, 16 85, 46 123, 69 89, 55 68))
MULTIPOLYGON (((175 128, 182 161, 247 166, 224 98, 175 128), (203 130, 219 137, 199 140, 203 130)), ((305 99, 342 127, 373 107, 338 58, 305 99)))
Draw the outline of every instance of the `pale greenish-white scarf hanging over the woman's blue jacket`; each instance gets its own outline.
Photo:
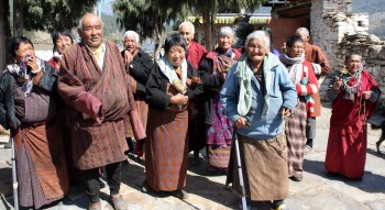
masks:
MULTIPOLYGON (((271 70, 278 66, 279 59, 276 55, 268 53, 263 59, 263 77, 266 93, 264 96, 263 113, 262 118, 266 118, 270 107, 270 89, 272 85, 271 70)), ((240 81, 240 96, 238 100, 238 113, 242 117, 246 115, 251 104, 252 104, 252 87, 251 78, 253 77, 254 70, 248 62, 248 54, 243 54, 240 60, 238 62, 237 69, 234 71, 235 76, 240 81)))

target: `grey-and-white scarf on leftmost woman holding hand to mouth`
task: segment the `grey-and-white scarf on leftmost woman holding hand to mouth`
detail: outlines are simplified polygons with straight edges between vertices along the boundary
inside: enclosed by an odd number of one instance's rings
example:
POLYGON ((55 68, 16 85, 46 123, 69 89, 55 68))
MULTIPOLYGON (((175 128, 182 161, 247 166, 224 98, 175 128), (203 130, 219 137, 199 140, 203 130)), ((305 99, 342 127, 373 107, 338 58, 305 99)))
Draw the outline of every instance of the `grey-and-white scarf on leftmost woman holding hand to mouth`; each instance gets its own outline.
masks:
MULTIPOLYGON (((38 69, 45 71, 44 60, 36 57, 36 63, 38 66, 38 69)), ((22 90, 24 92, 24 96, 31 93, 33 88, 33 81, 32 81, 32 70, 28 73, 28 67, 24 63, 20 62, 19 64, 10 64, 7 65, 7 69, 18 81, 22 82, 22 90)))

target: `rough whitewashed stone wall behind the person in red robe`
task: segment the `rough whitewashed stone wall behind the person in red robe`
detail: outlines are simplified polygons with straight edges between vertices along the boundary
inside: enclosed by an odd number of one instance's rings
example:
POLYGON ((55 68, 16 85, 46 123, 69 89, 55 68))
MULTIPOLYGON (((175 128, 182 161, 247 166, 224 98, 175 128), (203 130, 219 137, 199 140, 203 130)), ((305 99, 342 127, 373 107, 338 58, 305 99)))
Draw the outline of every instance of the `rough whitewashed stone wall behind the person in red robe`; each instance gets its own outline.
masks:
MULTIPOLYGON (((328 100, 326 90, 330 77, 344 69, 343 60, 348 52, 359 52, 365 68, 376 78, 385 92, 385 45, 373 34, 369 34, 369 14, 351 13, 352 0, 312 0, 310 12, 311 41, 327 55, 331 73, 321 87, 322 100, 328 100)), ((385 101, 385 95, 381 98, 385 101)))

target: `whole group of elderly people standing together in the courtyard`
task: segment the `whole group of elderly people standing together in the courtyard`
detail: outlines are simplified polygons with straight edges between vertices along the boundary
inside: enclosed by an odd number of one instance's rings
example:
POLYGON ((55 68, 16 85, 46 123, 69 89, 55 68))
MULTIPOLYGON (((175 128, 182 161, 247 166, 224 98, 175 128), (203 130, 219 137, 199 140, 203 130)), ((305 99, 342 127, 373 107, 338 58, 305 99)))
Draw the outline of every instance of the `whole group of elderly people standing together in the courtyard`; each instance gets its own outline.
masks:
MULTIPOLYGON (((22 207, 41 208, 62 199, 72 181, 84 181, 89 210, 99 210, 100 176, 106 174, 109 202, 127 209, 120 196, 122 163, 132 152, 143 155, 142 191, 168 191, 186 199, 188 154, 208 170, 227 174, 241 191, 233 139, 248 206, 266 202, 287 210, 288 179, 302 180, 306 147, 312 147, 320 115, 319 82, 330 71, 322 51, 298 29, 280 55, 266 31, 248 35, 234 48, 230 26, 218 33, 208 52, 194 41, 190 22, 165 40, 165 54, 153 62, 140 47, 139 34, 123 35, 124 49, 103 40, 103 23, 87 13, 79 20, 79 43, 70 31, 53 33, 54 57, 36 57, 31 40, 12 37, 12 63, 0 77, 0 122, 15 143, 22 207), (70 172, 70 173, 68 173, 70 172)), ((330 81, 332 101, 326 169, 352 179, 363 176, 365 119, 380 88, 350 53, 346 71, 330 81)))

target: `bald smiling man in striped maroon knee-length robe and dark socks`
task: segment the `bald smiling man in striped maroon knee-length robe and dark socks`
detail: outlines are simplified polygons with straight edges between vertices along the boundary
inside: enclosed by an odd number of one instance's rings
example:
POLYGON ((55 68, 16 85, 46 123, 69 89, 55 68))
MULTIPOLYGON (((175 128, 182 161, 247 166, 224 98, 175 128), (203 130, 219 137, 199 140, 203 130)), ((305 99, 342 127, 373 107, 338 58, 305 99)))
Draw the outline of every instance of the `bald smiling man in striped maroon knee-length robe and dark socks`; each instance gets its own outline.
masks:
POLYGON ((134 106, 125 66, 116 44, 103 42, 103 23, 91 13, 79 21, 81 42, 64 54, 58 91, 69 106, 74 165, 85 175, 90 210, 99 210, 99 167, 106 167, 109 202, 127 209, 119 195, 125 161, 124 118, 130 113, 135 139, 145 137, 134 106))

